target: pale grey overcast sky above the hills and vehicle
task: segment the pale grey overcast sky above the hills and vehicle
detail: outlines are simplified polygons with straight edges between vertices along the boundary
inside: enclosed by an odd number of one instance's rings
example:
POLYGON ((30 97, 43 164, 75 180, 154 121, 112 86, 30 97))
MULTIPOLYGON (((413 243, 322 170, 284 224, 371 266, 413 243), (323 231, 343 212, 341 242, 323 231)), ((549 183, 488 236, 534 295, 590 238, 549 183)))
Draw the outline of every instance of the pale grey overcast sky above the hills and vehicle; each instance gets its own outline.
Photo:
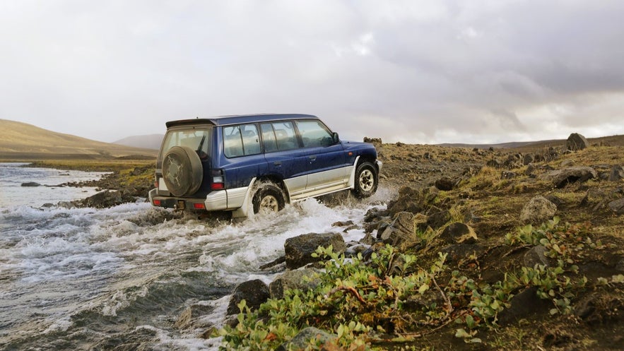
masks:
POLYGON ((624 134, 624 1, 0 0, 0 118, 98 141, 316 114, 343 139, 624 134))

